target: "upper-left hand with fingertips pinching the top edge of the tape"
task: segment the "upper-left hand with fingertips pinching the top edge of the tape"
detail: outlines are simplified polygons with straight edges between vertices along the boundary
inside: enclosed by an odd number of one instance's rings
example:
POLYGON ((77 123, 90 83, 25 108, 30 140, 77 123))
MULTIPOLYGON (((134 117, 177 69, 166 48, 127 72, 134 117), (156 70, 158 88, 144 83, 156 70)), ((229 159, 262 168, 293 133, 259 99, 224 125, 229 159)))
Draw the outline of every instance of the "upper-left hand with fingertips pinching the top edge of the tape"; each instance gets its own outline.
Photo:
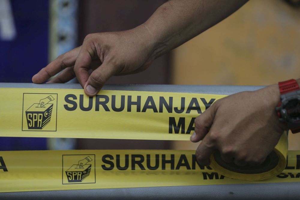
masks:
POLYGON ((32 77, 43 83, 64 83, 77 77, 85 94, 94 96, 113 75, 138 73, 154 60, 154 41, 144 25, 121 31, 88 34, 82 46, 66 52, 32 77), (92 71, 91 73, 90 70, 92 71))

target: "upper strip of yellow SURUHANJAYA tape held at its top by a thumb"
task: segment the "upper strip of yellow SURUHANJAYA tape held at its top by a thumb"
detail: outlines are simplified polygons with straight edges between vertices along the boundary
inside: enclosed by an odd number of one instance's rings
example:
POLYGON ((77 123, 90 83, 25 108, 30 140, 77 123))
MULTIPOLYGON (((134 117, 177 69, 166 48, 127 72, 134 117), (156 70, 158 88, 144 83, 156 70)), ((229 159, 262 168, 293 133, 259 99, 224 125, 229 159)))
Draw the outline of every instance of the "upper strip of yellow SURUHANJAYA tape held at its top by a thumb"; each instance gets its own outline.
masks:
POLYGON ((0 136, 189 140, 216 94, 0 88, 0 136), (124 133, 126 131, 126 133, 124 133))

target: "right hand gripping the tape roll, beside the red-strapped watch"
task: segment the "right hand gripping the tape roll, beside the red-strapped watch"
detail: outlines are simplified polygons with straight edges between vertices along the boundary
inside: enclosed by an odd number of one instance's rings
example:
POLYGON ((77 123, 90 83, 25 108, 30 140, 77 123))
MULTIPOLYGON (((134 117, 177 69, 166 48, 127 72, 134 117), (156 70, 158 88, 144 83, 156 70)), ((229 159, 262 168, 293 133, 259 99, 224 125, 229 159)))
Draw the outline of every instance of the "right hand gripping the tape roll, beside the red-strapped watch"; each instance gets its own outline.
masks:
POLYGON ((227 163, 261 164, 287 130, 275 111, 279 101, 276 84, 213 103, 195 119, 195 132, 190 138, 192 142, 202 140, 196 150, 199 164, 209 166, 209 157, 215 150, 227 163))

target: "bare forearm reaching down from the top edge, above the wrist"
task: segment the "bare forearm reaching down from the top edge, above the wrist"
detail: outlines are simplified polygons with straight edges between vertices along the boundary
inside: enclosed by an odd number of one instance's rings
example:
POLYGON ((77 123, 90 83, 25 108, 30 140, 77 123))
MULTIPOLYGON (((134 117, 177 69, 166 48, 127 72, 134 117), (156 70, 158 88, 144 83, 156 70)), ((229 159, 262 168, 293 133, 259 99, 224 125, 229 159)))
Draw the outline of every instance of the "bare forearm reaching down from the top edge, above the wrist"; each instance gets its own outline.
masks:
POLYGON ((157 58, 234 13, 247 0, 170 0, 142 25, 157 58))

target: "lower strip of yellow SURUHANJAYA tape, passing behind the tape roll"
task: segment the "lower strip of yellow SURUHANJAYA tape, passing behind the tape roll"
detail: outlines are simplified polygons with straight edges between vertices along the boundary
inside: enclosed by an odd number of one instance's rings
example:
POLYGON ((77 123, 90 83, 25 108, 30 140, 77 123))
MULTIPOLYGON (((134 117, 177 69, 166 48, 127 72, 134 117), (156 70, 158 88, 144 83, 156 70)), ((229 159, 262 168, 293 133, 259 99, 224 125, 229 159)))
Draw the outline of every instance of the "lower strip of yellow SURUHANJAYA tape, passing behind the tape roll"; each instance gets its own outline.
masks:
POLYGON ((264 181, 224 177, 199 166, 194 151, 69 150, 0 152, 0 192, 298 182, 300 151, 264 181))

